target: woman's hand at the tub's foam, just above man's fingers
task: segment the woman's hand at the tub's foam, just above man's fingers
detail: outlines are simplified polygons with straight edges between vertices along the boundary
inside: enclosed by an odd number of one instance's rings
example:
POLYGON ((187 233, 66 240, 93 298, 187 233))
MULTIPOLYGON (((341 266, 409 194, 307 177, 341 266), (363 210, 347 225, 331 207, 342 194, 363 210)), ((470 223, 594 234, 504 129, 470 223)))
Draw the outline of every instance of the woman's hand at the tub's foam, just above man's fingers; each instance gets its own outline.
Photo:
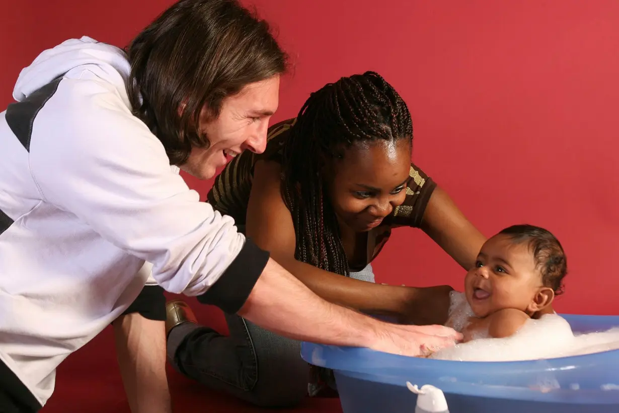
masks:
POLYGON ((408 289, 409 298, 402 303, 402 310, 398 316, 399 323, 429 326, 444 325, 447 322, 451 304, 449 293, 453 290, 449 285, 403 288, 408 289))

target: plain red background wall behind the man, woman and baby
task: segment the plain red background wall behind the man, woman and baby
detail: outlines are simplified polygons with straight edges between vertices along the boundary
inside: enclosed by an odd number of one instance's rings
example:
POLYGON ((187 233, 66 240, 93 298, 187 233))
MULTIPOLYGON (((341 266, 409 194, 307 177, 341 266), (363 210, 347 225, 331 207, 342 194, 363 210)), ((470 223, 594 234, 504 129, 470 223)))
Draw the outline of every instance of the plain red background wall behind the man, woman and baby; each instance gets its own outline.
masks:
MULTIPOLYGON (((43 48, 89 35, 125 45, 170 0, 7 2, 0 108, 43 48)), ((559 311, 619 314, 619 2, 248 0, 295 63, 274 121, 309 92, 372 69, 409 104, 413 160, 486 235, 529 222, 555 233, 570 274, 559 311)), ((204 198, 209 183, 188 180, 204 198)), ((374 265, 391 284, 462 287, 418 230, 397 230, 374 265)))

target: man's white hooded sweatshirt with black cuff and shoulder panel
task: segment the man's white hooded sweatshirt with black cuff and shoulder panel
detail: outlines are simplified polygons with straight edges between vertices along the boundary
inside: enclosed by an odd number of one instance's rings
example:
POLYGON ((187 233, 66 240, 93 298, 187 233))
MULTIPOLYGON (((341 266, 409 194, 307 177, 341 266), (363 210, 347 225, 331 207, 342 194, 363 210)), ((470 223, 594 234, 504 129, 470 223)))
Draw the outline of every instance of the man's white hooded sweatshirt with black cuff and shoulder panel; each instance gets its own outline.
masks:
POLYGON ((0 362, 41 406, 59 363, 137 297, 145 261, 165 290, 236 312, 268 259, 170 166, 128 77, 119 48, 67 40, 0 113, 0 362))

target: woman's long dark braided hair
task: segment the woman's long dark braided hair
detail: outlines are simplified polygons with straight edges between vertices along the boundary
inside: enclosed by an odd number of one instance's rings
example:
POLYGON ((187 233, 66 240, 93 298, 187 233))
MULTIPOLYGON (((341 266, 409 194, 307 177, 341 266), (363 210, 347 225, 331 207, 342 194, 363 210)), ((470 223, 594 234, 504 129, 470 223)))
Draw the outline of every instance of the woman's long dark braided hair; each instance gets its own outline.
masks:
POLYGON ((283 151, 282 197, 297 234, 295 258, 349 276, 321 167, 357 142, 412 140, 409 108, 375 72, 342 77, 311 93, 283 151))

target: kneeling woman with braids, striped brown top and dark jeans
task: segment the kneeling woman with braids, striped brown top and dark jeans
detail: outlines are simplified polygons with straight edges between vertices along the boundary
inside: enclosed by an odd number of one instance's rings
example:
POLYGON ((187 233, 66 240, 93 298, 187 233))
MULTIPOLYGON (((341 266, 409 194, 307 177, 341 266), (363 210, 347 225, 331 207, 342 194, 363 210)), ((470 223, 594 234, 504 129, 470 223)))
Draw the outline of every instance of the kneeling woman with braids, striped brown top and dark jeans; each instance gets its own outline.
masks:
MULTIPOLYGON (((392 228, 422 228, 464 269, 485 241, 410 163, 412 122, 396 90, 374 72, 344 77, 312 93, 268 139, 264 154, 246 152, 223 170, 210 204, 322 298, 444 323, 451 288, 373 284, 370 263, 392 228)), ((186 304, 168 303, 168 358, 184 375, 261 406, 292 405, 308 392, 299 342, 234 315, 229 337, 195 321, 186 304)), ((309 392, 325 379, 314 377, 309 392)))

